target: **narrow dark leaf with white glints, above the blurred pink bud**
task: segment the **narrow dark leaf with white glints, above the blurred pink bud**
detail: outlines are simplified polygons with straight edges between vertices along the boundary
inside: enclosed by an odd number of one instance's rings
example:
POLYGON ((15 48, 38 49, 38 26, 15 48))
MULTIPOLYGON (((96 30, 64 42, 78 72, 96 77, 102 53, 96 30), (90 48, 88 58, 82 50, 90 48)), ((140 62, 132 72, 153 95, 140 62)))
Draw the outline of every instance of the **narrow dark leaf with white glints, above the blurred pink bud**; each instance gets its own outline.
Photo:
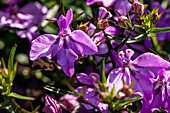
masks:
POLYGON ((67 91, 67 90, 64 90, 64 89, 55 88, 55 87, 48 86, 48 85, 46 85, 44 87, 44 89, 46 89, 46 90, 48 90, 50 92, 56 93, 56 94, 61 94, 61 95, 71 94, 70 91, 67 91))

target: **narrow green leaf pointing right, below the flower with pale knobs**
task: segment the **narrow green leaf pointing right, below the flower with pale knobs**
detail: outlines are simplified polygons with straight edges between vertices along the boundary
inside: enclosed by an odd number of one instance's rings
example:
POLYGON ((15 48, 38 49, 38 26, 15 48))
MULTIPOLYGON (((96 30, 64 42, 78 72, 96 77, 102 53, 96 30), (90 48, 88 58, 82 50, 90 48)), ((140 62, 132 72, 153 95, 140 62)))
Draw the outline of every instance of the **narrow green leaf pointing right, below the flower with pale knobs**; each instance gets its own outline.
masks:
POLYGON ((132 97, 132 98, 128 98, 128 99, 123 99, 123 100, 120 100, 117 105, 115 105, 116 108, 121 108, 129 103, 132 103, 132 102, 136 102, 138 100, 142 100, 142 97, 138 97, 138 96, 135 96, 135 97, 132 97))

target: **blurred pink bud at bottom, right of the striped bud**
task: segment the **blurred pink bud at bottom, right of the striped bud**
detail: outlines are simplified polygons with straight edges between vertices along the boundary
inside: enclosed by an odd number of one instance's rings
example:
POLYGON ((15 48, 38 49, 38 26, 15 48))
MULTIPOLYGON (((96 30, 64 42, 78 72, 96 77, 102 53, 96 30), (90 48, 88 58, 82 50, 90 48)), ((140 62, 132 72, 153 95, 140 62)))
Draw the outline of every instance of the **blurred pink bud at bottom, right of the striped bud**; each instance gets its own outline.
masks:
POLYGON ((64 95, 60 99, 60 103, 63 104, 64 109, 71 111, 74 107, 79 105, 77 97, 73 95, 64 95))

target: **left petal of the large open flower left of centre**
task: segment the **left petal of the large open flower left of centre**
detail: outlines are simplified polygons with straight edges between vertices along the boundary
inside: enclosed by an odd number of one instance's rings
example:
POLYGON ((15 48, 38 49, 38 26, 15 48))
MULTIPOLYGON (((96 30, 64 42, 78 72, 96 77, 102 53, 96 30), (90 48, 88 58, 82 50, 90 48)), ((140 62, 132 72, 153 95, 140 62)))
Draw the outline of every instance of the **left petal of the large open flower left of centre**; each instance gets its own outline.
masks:
POLYGON ((51 59, 58 51, 57 35, 41 35, 32 42, 30 59, 37 60, 41 57, 51 59))

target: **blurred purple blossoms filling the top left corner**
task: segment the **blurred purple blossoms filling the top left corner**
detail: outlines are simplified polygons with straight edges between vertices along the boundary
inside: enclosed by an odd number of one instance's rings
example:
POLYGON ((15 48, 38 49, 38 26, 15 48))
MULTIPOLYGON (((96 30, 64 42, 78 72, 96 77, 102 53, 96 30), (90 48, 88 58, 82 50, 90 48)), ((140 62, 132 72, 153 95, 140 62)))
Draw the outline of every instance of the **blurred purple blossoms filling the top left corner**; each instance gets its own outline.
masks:
MULTIPOLYGON (((38 2, 31 2, 19 9, 18 0, 10 0, 9 7, 0 11, 0 28, 9 26, 12 28, 26 29, 17 30, 16 33, 21 38, 28 38, 32 41, 39 36, 37 25, 42 22, 48 9, 38 2)), ((13 32, 13 31, 12 31, 13 32)))

